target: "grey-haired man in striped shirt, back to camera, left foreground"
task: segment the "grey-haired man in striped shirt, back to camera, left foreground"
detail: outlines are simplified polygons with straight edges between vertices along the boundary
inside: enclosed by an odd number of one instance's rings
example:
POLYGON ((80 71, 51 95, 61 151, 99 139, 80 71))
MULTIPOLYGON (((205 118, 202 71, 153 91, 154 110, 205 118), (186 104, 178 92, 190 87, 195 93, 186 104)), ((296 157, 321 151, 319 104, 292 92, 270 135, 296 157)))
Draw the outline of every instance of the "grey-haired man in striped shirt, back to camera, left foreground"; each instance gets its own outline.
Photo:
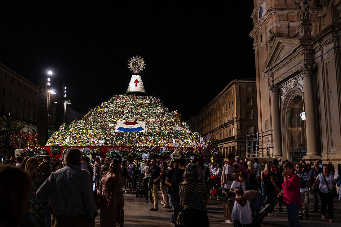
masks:
POLYGON ((55 215, 55 226, 94 226, 97 216, 90 174, 80 169, 78 148, 66 152, 66 166, 53 172, 37 190, 43 207, 55 215))

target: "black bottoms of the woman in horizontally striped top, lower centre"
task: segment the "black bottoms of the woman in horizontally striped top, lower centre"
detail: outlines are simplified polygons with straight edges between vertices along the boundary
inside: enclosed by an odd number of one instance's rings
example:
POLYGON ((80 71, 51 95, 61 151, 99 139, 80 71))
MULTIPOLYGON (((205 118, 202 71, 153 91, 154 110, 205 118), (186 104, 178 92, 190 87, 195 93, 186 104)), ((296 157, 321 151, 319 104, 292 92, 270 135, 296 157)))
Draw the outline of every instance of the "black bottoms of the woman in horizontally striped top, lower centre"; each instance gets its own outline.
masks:
POLYGON ((202 226, 208 227, 207 211, 185 209, 182 210, 182 226, 202 226))

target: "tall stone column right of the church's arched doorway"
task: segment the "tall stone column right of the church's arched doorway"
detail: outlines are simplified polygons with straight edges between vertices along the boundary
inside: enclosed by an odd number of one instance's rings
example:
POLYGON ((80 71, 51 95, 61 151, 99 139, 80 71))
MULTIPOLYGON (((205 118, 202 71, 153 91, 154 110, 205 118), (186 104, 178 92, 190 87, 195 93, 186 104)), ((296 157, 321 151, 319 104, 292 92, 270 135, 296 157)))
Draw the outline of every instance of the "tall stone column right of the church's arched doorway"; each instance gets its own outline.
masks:
POLYGON ((317 131, 316 131, 316 105, 314 101, 314 71, 316 65, 304 65, 300 71, 304 78, 304 104, 306 111, 306 131, 307 131, 307 155, 306 158, 318 158, 317 151, 317 131))

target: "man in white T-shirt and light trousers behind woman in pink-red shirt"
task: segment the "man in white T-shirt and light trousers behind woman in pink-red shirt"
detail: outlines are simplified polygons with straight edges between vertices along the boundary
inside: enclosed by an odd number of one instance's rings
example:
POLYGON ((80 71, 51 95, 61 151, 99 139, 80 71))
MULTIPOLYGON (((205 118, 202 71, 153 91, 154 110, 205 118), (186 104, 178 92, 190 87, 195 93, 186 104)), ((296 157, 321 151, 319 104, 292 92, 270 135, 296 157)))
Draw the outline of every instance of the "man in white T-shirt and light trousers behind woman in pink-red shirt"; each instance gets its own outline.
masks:
POLYGON ((300 182, 300 191, 301 191, 301 197, 304 199, 304 210, 302 212, 302 208, 300 208, 300 212, 298 213, 298 219, 302 220, 303 215, 306 216, 306 218, 309 218, 309 189, 312 191, 310 182, 308 180, 308 174, 305 171, 302 171, 302 165, 296 164, 295 166, 295 173, 298 176, 299 182, 300 182))

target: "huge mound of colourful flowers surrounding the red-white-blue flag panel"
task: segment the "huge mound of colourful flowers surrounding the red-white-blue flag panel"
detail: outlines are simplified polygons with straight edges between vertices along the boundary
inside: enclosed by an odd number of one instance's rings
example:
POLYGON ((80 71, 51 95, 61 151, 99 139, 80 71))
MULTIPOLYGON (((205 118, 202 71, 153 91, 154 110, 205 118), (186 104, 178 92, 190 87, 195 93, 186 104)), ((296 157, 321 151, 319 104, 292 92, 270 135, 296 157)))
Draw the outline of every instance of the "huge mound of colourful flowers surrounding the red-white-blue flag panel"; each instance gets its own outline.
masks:
MULTIPOLYGON (((114 95, 70 126, 60 126, 46 145, 60 146, 199 146, 179 115, 168 111, 155 97, 114 95), (146 122, 145 132, 115 132, 117 121, 146 122)), ((202 144, 204 145, 204 144, 202 144)))

